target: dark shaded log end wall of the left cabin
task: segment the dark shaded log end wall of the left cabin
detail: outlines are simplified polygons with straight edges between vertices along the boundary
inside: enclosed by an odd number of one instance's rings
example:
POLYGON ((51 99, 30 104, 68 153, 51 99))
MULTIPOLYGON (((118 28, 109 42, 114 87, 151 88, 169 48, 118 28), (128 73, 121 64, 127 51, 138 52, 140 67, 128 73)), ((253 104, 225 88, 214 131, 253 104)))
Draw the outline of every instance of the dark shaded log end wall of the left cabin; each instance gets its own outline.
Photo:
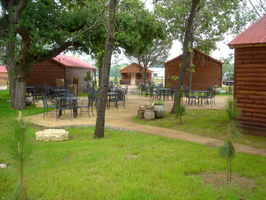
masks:
POLYGON ((28 75, 27 86, 50 84, 56 86, 56 79, 65 79, 65 67, 54 61, 36 63, 28 75))

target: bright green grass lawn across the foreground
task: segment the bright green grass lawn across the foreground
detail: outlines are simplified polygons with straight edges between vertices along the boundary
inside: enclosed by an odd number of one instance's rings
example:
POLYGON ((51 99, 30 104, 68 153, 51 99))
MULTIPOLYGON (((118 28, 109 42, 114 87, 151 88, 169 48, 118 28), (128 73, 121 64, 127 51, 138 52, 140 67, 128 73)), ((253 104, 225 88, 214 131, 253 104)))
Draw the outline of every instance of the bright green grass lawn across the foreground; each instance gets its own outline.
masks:
MULTIPOLYGON (((10 121, 18 111, 9 108, 8 91, 0 91, 0 96, 1 142, 13 130, 10 121)), ((27 106, 23 115, 42 112, 27 106)), ((196 121, 194 118, 193 123, 196 121)), ((218 122, 210 119, 208 123, 217 126, 218 122)), ((32 141, 39 130, 42 128, 32 126, 32 141)), ((217 148, 137 132, 106 129, 105 138, 93 139, 94 127, 66 130, 68 141, 36 142, 24 167, 24 183, 32 199, 265 199, 264 157, 237 153, 232 161, 232 182, 216 186, 203 177, 223 173, 223 182, 226 180, 226 160, 218 156, 217 148), (254 184, 239 186, 235 176, 254 184)), ((7 199, 17 184, 18 171, 2 145, 0 163, 8 164, 0 169, 0 197, 7 199)))

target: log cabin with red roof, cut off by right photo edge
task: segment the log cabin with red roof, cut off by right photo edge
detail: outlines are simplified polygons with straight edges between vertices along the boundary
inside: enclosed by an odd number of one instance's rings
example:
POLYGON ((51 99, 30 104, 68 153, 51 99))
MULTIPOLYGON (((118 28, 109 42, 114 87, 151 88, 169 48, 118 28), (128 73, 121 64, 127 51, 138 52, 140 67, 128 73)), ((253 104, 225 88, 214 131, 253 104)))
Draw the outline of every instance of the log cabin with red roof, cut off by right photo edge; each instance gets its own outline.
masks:
POLYGON ((234 97, 243 133, 266 137, 266 15, 228 43, 234 49, 234 97))

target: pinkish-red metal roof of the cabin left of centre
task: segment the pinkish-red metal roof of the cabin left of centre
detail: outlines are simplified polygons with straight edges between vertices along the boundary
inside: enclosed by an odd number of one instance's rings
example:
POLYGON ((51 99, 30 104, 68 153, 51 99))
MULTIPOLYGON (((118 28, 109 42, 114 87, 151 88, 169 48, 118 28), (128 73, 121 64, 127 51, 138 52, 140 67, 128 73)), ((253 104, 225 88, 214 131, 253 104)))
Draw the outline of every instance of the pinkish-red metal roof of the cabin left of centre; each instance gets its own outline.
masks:
POLYGON ((52 58, 53 61, 58 62, 63 66, 74 66, 74 67, 87 67, 90 69, 97 69, 93 65, 82 61, 77 57, 65 56, 65 55, 57 55, 56 57, 52 58))

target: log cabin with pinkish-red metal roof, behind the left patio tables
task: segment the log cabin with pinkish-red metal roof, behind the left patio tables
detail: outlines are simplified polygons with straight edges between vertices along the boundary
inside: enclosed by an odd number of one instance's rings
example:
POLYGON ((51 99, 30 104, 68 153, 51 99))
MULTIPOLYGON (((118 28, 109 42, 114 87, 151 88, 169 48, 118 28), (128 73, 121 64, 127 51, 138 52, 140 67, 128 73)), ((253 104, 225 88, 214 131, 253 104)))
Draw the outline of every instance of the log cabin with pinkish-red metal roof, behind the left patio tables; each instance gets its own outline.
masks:
POLYGON ((57 55, 51 60, 35 63, 32 66, 27 79, 27 86, 45 84, 56 86, 56 79, 64 79, 65 84, 73 84, 73 77, 79 77, 78 93, 81 93, 83 92, 83 84, 87 84, 83 80, 87 71, 90 71, 90 75, 93 77, 93 71, 96 69, 97 67, 77 57, 57 55))

